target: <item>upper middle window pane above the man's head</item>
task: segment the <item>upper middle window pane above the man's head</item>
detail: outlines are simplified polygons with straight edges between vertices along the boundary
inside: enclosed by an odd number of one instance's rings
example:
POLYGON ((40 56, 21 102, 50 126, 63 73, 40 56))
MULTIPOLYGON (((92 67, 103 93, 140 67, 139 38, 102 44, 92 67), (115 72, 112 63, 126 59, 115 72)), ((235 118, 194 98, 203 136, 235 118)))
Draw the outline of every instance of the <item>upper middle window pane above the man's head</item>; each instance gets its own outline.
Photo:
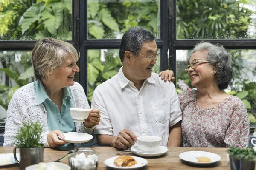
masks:
POLYGON ((134 26, 160 37, 159 0, 88 0, 88 39, 121 39, 134 26))

